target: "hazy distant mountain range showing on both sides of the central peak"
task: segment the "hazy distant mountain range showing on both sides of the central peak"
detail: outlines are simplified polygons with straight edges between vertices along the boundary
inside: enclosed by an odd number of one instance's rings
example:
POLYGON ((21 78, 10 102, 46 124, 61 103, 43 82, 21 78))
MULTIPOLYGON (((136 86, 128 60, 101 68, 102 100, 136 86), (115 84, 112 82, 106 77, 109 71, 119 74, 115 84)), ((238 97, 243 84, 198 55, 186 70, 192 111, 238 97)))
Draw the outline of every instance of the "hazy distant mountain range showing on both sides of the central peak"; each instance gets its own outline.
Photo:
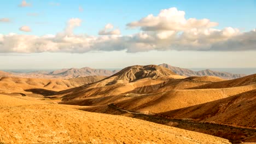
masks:
MULTIPOLYGON (((179 67, 173 67, 168 64, 160 64, 159 66, 165 67, 167 69, 170 69, 177 75, 182 76, 217 76, 222 79, 237 79, 243 76, 246 76, 245 74, 231 74, 226 72, 219 72, 219 71, 213 71, 210 69, 206 70, 200 70, 200 71, 193 71, 190 69, 185 68, 179 68, 179 67)), ((2 72, 0 75, 13 75, 18 77, 32 77, 32 78, 48 78, 48 79, 71 79, 74 77, 84 77, 84 76, 95 76, 95 75, 101 75, 101 76, 111 76, 116 73, 118 73, 120 70, 106 70, 106 69, 92 69, 89 67, 85 68, 71 68, 71 69, 59 69, 54 70, 51 72, 48 71, 34 71, 31 73, 6 73, 2 72)))

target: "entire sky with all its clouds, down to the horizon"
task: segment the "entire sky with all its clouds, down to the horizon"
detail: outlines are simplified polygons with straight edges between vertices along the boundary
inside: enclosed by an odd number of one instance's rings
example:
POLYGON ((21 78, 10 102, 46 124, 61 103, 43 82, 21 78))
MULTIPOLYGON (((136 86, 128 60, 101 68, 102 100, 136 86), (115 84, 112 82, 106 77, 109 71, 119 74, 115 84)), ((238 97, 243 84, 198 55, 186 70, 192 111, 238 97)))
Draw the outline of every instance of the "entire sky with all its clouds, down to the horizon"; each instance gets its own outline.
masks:
POLYGON ((256 68, 256 1, 0 5, 0 69, 256 68))

